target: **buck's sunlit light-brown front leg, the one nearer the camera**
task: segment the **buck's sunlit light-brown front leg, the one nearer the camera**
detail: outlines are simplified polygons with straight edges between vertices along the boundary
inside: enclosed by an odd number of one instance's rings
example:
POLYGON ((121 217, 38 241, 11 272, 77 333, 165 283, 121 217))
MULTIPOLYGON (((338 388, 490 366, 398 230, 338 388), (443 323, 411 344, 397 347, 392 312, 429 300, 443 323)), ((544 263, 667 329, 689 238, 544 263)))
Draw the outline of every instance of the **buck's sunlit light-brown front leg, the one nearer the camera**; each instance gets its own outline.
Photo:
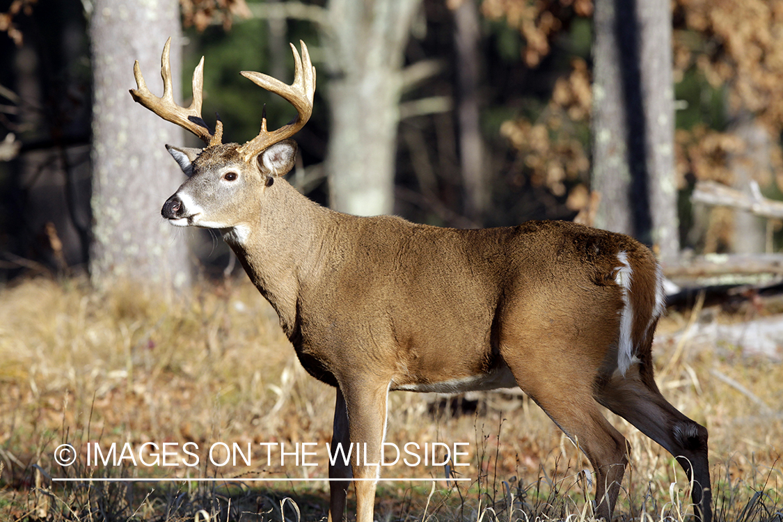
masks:
POLYGON ((381 473, 389 382, 341 383, 348 411, 348 434, 356 491, 356 522, 373 522, 375 487, 381 473), (358 450, 358 452, 357 452, 358 450))

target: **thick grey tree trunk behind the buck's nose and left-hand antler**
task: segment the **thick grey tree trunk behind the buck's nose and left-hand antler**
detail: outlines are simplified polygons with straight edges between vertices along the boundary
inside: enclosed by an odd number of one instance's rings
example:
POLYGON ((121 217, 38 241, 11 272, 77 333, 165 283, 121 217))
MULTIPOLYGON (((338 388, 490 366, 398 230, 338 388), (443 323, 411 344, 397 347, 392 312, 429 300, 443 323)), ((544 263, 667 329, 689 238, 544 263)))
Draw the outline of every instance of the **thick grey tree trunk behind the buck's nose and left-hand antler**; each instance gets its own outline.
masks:
POLYGON ((190 283, 182 235, 161 219, 161 204, 182 183, 164 144, 181 143, 182 129, 134 103, 128 89, 135 88, 138 59, 150 90, 162 94, 159 64, 169 35, 174 90, 181 92, 179 3, 94 3, 90 272, 98 286, 123 280, 163 296, 190 283))

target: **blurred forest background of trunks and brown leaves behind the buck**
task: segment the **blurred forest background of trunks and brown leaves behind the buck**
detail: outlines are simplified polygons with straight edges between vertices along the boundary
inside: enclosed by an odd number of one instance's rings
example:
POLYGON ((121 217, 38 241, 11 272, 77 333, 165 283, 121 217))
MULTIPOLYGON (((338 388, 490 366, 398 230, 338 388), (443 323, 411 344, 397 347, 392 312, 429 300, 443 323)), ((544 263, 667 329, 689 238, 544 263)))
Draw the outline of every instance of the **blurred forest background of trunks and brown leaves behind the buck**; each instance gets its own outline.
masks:
MULTIPOLYGON (((2 280, 88 268, 95 280, 122 275, 123 263, 171 267, 189 260, 201 274, 233 266, 229 250, 206 232, 188 232, 193 254, 182 240, 160 236, 174 233, 164 230, 159 208, 182 182, 164 142, 196 143, 133 103, 127 90, 135 87, 132 63, 139 59, 150 88, 162 92, 157 63, 170 34, 172 64, 181 71, 175 99, 189 100, 190 75, 205 56, 204 118, 214 124, 218 112, 227 139, 236 142, 257 134, 263 104, 271 127, 293 115, 240 70, 288 82, 288 42, 309 45, 316 106, 295 137, 301 162, 290 179, 338 210, 456 227, 579 214, 660 251, 655 232, 609 215, 649 207, 654 220, 665 209, 648 193, 660 185, 672 195, 673 214, 652 227, 674 230, 675 254, 761 252, 779 243, 778 221, 692 205, 689 196, 697 181, 742 191, 755 181, 764 196, 781 199, 783 2, 12 0, 0 2, 2 280), (651 9, 663 13, 662 25, 640 27, 639 20, 652 20, 651 9), (619 38, 604 48, 596 34, 601 13, 604 24, 606 13, 615 16, 608 23, 619 38), (611 172, 596 179, 605 171, 601 161, 612 158, 601 152, 601 139, 591 138, 602 135, 600 125, 607 128, 597 120, 616 95, 602 88, 598 96, 593 82, 601 85, 594 78, 600 53, 622 54, 629 45, 623 31, 633 47, 637 29, 662 31, 664 45, 642 46, 639 61, 623 58, 619 69, 663 82, 651 88, 665 94, 652 121, 673 113, 670 137, 655 145, 670 167, 664 162, 654 167, 662 178, 648 173, 647 182, 621 189, 630 199, 620 201, 612 187, 628 180, 611 172), (655 59, 663 73, 644 63, 655 59), (121 126, 111 127, 117 121, 121 126), (124 207, 126 200, 135 206, 124 207), (145 254, 161 243, 171 252, 145 254), (159 254, 174 257, 161 263, 159 254)), ((608 85, 615 83, 609 77, 608 85)), ((624 95, 623 103, 635 103, 624 95)), ((636 175, 633 165, 628 175, 636 175)), ((179 286, 190 275, 167 277, 179 286)))

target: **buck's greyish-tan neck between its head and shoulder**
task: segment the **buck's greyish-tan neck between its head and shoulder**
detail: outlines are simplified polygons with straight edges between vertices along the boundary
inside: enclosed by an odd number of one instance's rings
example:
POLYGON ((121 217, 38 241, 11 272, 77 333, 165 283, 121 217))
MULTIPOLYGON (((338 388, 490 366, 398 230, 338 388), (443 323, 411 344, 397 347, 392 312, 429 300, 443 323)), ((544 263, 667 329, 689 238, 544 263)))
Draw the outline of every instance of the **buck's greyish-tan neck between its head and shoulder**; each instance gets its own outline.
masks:
POLYGON ((276 179, 259 203, 251 223, 223 231, 223 238, 293 340, 302 283, 312 283, 323 266, 321 239, 332 236, 339 214, 313 203, 283 179, 276 179))

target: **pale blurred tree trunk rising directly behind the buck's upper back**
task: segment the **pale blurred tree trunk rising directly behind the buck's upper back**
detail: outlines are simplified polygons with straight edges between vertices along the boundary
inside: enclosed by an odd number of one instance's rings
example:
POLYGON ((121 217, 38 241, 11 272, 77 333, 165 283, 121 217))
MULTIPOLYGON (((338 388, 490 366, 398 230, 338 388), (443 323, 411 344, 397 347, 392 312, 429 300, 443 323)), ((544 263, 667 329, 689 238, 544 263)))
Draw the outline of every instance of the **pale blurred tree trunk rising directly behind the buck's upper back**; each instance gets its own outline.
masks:
POLYGON ((401 67, 421 0, 331 0, 324 35, 333 70, 327 95, 330 207, 349 214, 394 211, 401 67))

